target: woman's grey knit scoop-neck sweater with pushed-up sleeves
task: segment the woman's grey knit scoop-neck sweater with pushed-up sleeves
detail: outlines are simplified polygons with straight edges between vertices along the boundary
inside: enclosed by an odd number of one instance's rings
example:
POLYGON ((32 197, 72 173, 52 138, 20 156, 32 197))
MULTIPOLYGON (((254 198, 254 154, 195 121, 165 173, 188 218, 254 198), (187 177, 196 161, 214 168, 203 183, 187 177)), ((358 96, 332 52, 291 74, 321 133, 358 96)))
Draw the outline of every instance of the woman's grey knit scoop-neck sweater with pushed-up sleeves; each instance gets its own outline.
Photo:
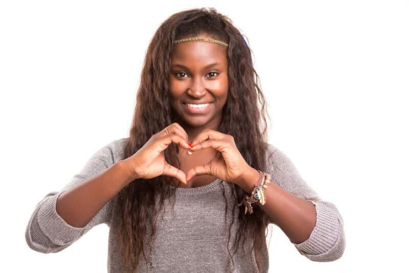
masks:
MULTIPOLYGON (((109 226, 107 270, 111 273, 122 272, 122 258, 116 235, 118 227, 115 220, 118 195, 109 200, 84 227, 67 224, 56 212, 56 200, 64 190, 83 183, 123 160, 125 141, 125 138, 118 139, 99 149, 89 158, 82 170, 74 175, 69 184, 60 191, 48 193, 38 202, 25 234, 30 248, 41 253, 62 251, 94 226, 105 223, 109 226)), ((344 223, 335 205, 322 200, 306 184, 289 158, 271 144, 267 160, 269 164, 265 172, 271 175, 271 181, 276 185, 304 199, 318 198, 309 200, 315 205, 316 210, 316 224, 311 236, 302 243, 293 243, 298 252, 317 262, 329 262, 340 258, 345 249, 344 223), (272 162, 275 162, 281 171, 273 168, 272 162)), ((239 209, 243 207, 233 206, 233 191, 229 187, 229 182, 216 179, 203 187, 176 188, 174 211, 167 209, 164 215, 163 212, 158 212, 164 219, 158 218, 161 221, 156 223, 156 239, 147 263, 148 268, 141 256, 140 272, 226 272, 229 257, 224 233, 225 201, 221 187, 224 187, 225 196, 228 198, 228 210, 234 209, 234 215, 238 217, 239 209), (180 232, 180 227, 183 227, 183 232, 180 232)), ((165 200, 165 204, 168 208, 170 200, 165 200)), ((227 223, 230 223, 231 218, 228 216, 227 220, 227 223)), ((234 243, 232 238, 235 238, 238 232, 237 222, 234 221, 232 226, 230 247, 234 243)), ((247 240, 246 245, 249 246, 250 243, 247 240)), ((266 247, 262 249, 262 257, 268 266, 266 247)), ((234 256, 234 264, 234 272, 252 272, 253 266, 256 266, 254 252, 246 252, 246 249, 243 252, 240 245, 234 256)))

